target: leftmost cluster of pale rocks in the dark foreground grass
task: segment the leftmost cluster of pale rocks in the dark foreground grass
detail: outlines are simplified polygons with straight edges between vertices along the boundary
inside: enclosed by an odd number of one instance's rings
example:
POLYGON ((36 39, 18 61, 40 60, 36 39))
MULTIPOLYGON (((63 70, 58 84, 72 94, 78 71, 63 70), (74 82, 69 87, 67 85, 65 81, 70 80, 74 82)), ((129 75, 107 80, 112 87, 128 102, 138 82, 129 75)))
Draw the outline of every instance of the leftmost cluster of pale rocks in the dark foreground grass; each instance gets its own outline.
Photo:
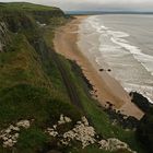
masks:
POLYGON ((21 120, 15 126, 10 125, 9 128, 0 131, 0 140, 2 140, 3 148, 12 148, 17 142, 21 128, 28 129, 31 122, 28 120, 21 120))

